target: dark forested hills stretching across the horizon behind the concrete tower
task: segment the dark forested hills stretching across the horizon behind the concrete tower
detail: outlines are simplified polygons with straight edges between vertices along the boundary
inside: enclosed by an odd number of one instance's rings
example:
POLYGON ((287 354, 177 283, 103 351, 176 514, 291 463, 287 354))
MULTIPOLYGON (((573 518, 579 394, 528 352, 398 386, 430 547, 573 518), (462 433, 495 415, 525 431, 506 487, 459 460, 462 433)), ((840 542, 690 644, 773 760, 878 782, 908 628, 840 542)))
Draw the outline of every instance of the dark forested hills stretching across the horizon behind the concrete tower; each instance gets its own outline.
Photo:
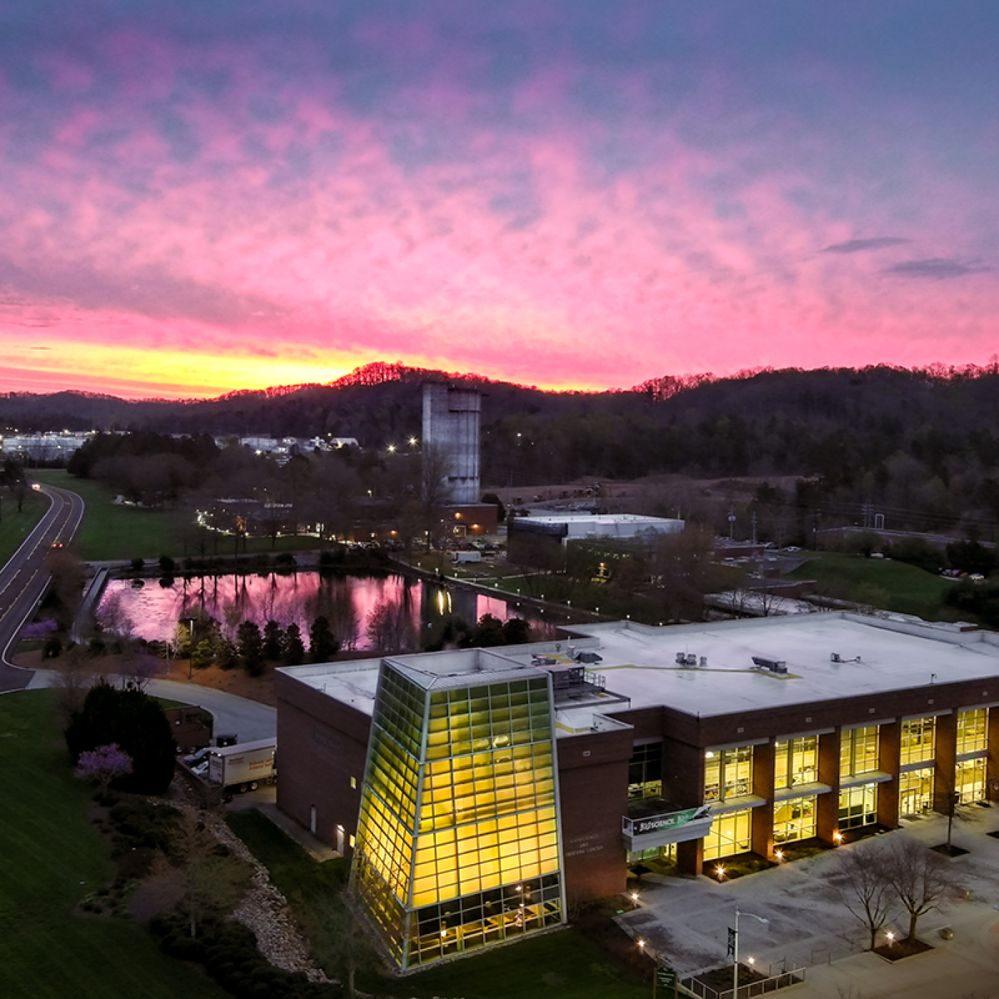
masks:
MULTIPOLYGON (((932 485, 940 502, 999 476, 999 371, 764 371, 733 379, 664 378, 624 392, 554 393, 474 376, 368 366, 328 386, 210 401, 130 403, 59 393, 0 397, 22 431, 356 437, 367 449, 419 437, 421 384, 447 379, 483 398, 484 481, 705 476, 822 476, 875 499, 891 483, 932 485)), ((909 487, 907 487, 909 488, 909 487)), ((999 488, 997 488, 999 489, 999 488)), ((968 492, 970 490, 970 493, 968 492)), ((925 499, 925 498, 924 498, 925 499)), ((978 501, 978 500, 974 500, 978 501)))

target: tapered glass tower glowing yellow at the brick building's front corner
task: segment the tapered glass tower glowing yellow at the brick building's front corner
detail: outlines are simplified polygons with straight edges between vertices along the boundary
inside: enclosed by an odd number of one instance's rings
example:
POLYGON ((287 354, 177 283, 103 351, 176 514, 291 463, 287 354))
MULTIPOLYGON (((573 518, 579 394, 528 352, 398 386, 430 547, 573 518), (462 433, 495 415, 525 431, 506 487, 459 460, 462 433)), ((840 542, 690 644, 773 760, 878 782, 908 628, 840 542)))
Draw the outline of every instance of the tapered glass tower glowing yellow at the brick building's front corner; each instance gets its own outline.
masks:
POLYGON ((487 677, 382 667, 354 885, 402 968, 562 922, 548 678, 487 677))

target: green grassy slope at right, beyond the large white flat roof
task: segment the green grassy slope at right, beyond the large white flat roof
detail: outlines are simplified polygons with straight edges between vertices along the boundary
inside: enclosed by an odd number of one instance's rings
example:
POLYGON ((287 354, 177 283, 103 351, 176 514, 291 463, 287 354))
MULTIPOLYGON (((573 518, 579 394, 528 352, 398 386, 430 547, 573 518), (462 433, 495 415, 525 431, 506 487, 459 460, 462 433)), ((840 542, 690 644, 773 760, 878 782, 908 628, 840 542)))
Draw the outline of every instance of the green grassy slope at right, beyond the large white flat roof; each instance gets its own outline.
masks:
POLYGON ((809 558, 790 578, 815 579, 830 595, 859 602, 865 602, 865 587, 869 591, 874 586, 887 594, 885 609, 927 620, 955 617, 953 608, 943 602, 953 583, 906 562, 828 552, 809 558))

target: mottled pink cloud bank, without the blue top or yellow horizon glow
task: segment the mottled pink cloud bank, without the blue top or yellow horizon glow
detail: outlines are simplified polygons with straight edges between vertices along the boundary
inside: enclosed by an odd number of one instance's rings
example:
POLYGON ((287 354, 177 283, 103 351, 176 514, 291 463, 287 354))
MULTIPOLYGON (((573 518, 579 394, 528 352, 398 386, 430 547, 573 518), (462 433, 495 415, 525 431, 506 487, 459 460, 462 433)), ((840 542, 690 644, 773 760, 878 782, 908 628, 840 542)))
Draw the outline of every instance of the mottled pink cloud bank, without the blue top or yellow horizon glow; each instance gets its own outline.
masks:
MULTIPOLYGON (((995 273, 919 283, 905 269, 984 259, 993 238, 994 212, 925 156, 893 164, 887 194, 870 165, 834 183, 847 152, 793 108, 741 109, 723 67, 663 112, 645 67, 587 72, 560 51, 500 107, 467 82, 480 53, 442 53, 431 25, 371 19, 355 36, 436 69, 402 74, 366 113, 318 45, 289 77, 268 40, 110 32, 122 87, 71 103, 36 156, 2 163, 0 289, 21 304, 0 323, 44 323, 55 344, 245 358, 253 377, 262 358, 338 373, 403 358, 589 387, 987 352, 995 273), (199 96, 190 79, 210 72, 216 96, 199 96), (583 82, 621 116, 587 113, 583 82), (820 253, 863 239, 911 242, 876 262, 820 253), (888 280, 892 267, 912 280, 888 280)), ((43 65, 60 91, 95 86, 86 64, 43 65)), ((849 97, 835 68, 801 65, 849 97)), ((202 366, 197 384, 230 375, 202 366)))

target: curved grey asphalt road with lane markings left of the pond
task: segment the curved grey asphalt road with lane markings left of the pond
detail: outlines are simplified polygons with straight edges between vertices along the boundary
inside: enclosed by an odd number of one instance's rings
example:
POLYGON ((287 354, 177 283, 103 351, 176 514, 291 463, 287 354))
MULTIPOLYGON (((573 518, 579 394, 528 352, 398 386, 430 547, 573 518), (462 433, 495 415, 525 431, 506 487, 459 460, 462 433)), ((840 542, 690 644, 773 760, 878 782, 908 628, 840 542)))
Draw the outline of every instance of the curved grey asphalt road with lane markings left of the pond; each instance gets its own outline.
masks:
POLYGON ((31 681, 33 670, 15 666, 9 655, 45 595, 47 555, 53 545, 68 544, 83 519, 84 503, 75 493, 52 486, 41 492, 51 500, 48 510, 0 569, 0 693, 22 690, 31 681))

